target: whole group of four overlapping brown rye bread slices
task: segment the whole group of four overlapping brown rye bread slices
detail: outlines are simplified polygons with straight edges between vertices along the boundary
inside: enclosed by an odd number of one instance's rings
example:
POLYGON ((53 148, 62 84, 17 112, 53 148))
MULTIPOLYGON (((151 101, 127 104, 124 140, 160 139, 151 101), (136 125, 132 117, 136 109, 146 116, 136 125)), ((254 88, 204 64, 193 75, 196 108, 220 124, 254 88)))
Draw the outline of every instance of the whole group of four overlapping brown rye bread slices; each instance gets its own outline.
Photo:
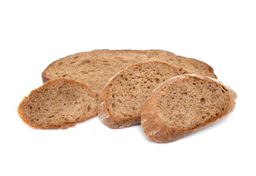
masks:
POLYGON ((97 113, 109 128, 141 124, 154 142, 171 142, 226 117, 235 92, 213 68, 163 50, 95 50, 52 62, 43 85, 21 101, 33 128, 68 128, 97 113))

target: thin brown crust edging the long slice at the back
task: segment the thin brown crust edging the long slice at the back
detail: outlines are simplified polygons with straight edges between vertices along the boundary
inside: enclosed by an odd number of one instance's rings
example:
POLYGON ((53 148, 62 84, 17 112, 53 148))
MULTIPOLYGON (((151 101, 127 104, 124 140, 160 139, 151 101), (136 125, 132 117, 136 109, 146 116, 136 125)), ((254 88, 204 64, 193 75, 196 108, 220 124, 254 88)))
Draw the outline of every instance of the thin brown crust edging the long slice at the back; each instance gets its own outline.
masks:
MULTIPOLYGON (((163 52, 166 52, 166 53, 174 54, 174 53, 172 53, 172 52, 170 52, 170 51, 157 50, 157 49, 152 49, 152 50, 108 50, 108 49, 102 49, 102 50, 93 50, 93 51, 110 51, 110 52, 114 52, 114 51, 120 51, 120 52, 131 52, 131 51, 133 51, 133 52, 134 52, 134 51, 135 51, 135 52, 163 51, 163 52)), ((51 64, 48 65, 48 67, 46 67, 46 69, 43 70, 43 73, 41 74, 41 75, 42 75, 42 79, 43 79, 43 83, 46 83, 47 81, 50 81, 50 80, 51 80, 51 78, 49 78, 49 77, 46 76, 46 71, 49 69, 49 67, 51 67, 52 65, 54 65, 55 62, 59 62, 61 59, 64 59, 64 58, 66 58, 66 57, 82 56, 82 55, 85 54, 85 53, 93 52, 93 51, 85 51, 85 52, 79 52, 79 53, 77 53, 77 54, 71 54, 71 55, 65 56, 65 57, 63 57, 63 58, 57 59, 57 60, 54 61, 54 62, 51 62, 51 64)), ((189 57, 185 57, 185 56, 177 56, 176 54, 174 54, 174 56, 176 56, 176 57, 183 57, 183 58, 187 58, 187 59, 193 59, 193 58, 189 58, 189 57)), ((207 63, 202 62, 202 61, 200 61, 200 60, 198 60, 198 59, 193 59, 193 60, 195 60, 196 62, 201 62, 201 63, 204 64, 204 65, 207 65, 207 63)), ((207 67, 208 67, 209 72, 213 74, 213 77, 214 77, 214 78, 217 78, 217 76, 214 74, 213 67, 210 67, 210 65, 207 65, 207 67)), ((95 92, 97 95, 99 95, 99 93, 100 93, 100 91, 95 91, 95 90, 93 90, 93 89, 92 89, 92 91, 95 92)))

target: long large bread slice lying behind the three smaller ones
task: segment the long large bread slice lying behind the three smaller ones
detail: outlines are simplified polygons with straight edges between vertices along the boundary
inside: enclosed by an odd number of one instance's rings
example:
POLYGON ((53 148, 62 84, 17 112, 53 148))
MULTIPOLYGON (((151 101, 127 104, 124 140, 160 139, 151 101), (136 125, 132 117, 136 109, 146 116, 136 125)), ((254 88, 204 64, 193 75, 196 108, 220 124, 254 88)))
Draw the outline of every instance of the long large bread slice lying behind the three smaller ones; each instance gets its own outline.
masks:
POLYGON ((53 78, 82 81, 99 94, 107 81, 124 67, 137 62, 157 60, 183 67, 202 76, 217 78, 213 68, 205 62, 177 56, 163 50, 94 50, 66 56, 52 62, 42 73, 43 82, 53 78))

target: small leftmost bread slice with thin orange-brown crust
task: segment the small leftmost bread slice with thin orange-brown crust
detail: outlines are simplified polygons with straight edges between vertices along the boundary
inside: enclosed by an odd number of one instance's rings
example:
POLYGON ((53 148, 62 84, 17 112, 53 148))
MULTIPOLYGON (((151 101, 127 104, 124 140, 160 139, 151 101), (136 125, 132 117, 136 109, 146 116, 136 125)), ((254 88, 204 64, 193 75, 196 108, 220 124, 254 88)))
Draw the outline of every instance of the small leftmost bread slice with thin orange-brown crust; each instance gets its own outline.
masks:
POLYGON ((18 114, 33 128, 68 128, 95 115, 97 103, 87 85, 57 78, 32 90, 18 106, 18 114))

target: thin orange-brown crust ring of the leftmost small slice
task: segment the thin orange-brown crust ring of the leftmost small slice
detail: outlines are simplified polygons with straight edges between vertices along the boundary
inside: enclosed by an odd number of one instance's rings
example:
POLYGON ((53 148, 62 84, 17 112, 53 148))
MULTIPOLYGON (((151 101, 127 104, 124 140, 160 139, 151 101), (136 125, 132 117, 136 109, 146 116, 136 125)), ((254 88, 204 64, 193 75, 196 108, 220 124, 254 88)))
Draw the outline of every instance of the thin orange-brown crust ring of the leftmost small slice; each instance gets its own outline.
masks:
MULTIPOLYGON (((84 84, 82 82, 79 82, 79 81, 71 80, 71 79, 68 79, 68 78, 55 78, 55 79, 52 79, 51 81, 46 82, 45 84, 43 84, 42 86, 38 87, 37 89, 32 90, 32 92, 37 92, 38 90, 42 89, 43 87, 47 87, 48 84, 51 84, 51 83, 57 82, 57 81, 68 81, 68 82, 71 82, 71 83, 74 83, 74 84, 79 84, 82 87, 85 87, 86 89, 88 89, 95 96, 95 100, 98 103, 98 98, 97 98, 96 94, 86 84, 84 84)), ((26 115, 24 114, 24 111, 22 109, 23 103, 26 102, 27 100, 29 100, 32 92, 30 92, 27 97, 24 97, 24 99, 21 101, 21 103, 19 104, 18 109, 17 109, 18 115, 21 117, 21 120, 24 123, 26 123, 26 125, 29 125, 32 128, 40 128, 40 129, 62 128, 62 129, 66 129, 68 127, 76 125, 76 123, 79 122, 79 121, 83 121, 83 120, 88 119, 89 117, 93 117, 94 115, 96 115, 96 113, 98 111, 98 105, 96 105, 96 107, 93 109, 93 111, 91 111, 91 113, 86 114, 85 117, 81 117, 81 118, 79 118, 79 120, 77 120, 75 122, 67 122, 67 123, 63 123, 63 124, 59 124, 59 125, 49 125, 49 127, 47 127, 47 128, 41 127, 41 126, 38 126, 35 123, 30 122, 28 120, 28 118, 26 117, 26 115)))

